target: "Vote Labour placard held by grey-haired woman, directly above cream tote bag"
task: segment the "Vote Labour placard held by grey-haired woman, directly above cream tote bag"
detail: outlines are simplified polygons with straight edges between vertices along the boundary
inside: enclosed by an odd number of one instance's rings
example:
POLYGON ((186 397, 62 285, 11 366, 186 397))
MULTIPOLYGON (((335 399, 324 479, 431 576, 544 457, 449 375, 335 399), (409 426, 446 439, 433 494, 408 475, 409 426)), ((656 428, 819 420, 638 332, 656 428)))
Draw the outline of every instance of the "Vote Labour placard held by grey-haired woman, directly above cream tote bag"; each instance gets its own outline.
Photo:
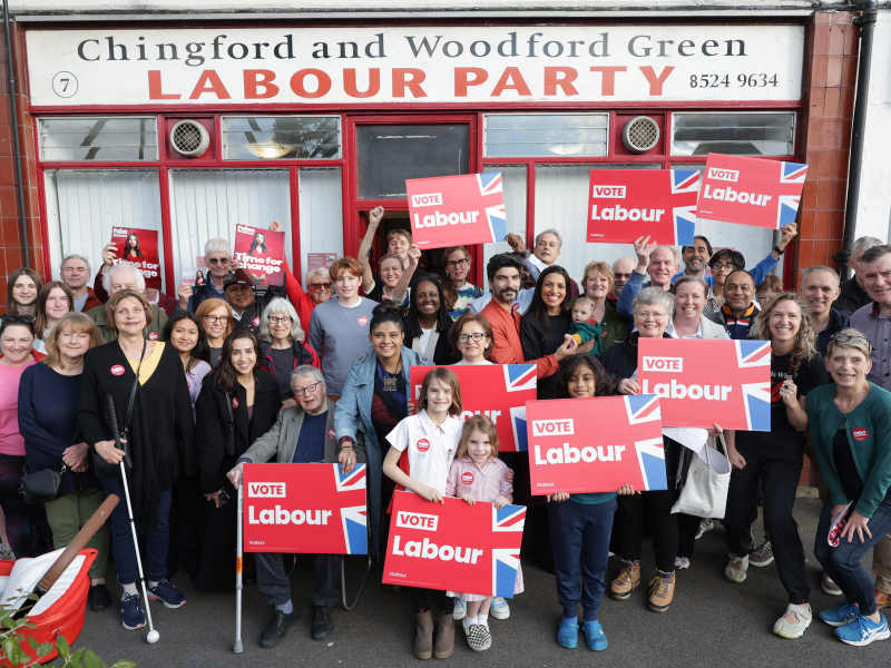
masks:
POLYGON ((637 384, 662 399, 666 426, 771 430, 767 341, 640 338, 637 384))

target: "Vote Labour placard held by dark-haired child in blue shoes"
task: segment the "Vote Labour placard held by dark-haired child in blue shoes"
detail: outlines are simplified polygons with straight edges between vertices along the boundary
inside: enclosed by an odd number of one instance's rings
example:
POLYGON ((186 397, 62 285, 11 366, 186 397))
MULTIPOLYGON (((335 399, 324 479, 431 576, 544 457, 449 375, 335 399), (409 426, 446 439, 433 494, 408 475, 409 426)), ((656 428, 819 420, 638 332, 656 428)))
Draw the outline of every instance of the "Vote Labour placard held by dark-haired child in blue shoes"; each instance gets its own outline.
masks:
POLYGON ((658 397, 530 401, 526 414, 532 495, 667 489, 658 397))

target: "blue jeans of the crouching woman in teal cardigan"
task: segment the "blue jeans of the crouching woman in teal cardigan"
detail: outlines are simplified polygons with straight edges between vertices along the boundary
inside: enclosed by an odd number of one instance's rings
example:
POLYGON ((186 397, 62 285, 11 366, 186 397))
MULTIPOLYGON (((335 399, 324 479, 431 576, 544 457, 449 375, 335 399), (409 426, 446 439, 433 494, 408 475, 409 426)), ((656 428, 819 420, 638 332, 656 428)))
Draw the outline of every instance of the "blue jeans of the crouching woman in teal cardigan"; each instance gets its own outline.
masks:
POLYGON ((826 536, 831 522, 832 500, 830 499, 823 504, 823 512, 820 515, 814 541, 814 557, 823 566, 826 574, 841 587, 849 603, 856 603, 861 615, 874 615, 878 608, 875 607, 872 577, 860 563, 860 560, 884 538, 885 533, 891 531, 891 493, 885 495, 884 501, 872 513, 868 524, 872 538, 864 533, 864 542, 860 542, 860 538, 854 534, 851 542, 848 542, 848 537, 845 537, 839 539, 838 548, 830 547, 826 536))

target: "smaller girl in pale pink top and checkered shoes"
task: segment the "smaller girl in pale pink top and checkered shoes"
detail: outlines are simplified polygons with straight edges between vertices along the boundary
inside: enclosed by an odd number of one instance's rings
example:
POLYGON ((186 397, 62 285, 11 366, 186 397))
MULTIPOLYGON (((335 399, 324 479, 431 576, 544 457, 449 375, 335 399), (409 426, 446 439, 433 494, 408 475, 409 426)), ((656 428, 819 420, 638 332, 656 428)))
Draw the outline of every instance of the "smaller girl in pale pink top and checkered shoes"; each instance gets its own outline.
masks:
MULTIPOLYGON (((488 415, 473 415, 464 422, 458 454, 454 456, 446 493, 473 505, 477 501, 495 504, 498 510, 513 502, 513 485, 508 480, 509 469, 498 459, 498 429, 488 415)), ((522 591, 522 571, 517 568, 517 583, 513 593, 522 591)), ((482 651, 492 646, 489 632, 489 607, 491 596, 459 593, 449 596, 467 601, 464 633, 470 649, 482 651)))

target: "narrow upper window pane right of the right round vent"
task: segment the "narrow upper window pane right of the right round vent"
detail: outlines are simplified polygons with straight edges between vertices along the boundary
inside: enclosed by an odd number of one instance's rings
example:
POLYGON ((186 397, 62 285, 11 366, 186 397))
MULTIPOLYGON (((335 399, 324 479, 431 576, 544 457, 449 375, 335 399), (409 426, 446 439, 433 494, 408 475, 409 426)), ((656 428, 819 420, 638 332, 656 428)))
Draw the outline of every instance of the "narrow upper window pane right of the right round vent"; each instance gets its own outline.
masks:
POLYGON ((794 112, 672 115, 673 156, 791 156, 794 139, 794 112))

